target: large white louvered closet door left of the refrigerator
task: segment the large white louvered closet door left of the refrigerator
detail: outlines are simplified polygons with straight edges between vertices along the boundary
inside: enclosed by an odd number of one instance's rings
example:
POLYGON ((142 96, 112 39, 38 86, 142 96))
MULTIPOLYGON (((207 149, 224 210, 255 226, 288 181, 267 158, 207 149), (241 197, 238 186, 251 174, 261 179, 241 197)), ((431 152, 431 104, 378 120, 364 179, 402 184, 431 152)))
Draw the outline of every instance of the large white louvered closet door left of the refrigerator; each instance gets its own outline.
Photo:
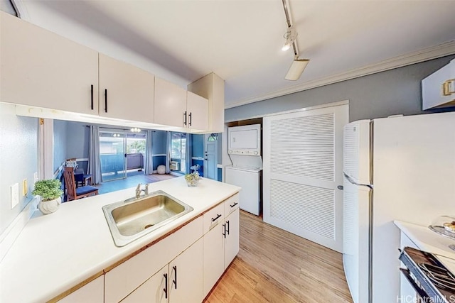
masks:
POLYGON ((264 221, 343 248, 343 126, 348 104, 265 117, 264 221))

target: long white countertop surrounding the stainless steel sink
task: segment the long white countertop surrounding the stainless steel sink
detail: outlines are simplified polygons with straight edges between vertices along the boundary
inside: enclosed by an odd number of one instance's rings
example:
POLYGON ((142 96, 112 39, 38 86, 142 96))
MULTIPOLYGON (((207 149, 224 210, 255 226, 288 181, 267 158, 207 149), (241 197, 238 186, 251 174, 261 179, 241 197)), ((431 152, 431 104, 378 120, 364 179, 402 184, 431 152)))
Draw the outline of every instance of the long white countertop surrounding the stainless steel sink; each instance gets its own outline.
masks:
POLYGON ((134 197, 134 189, 66 202, 55 213, 28 221, 0 263, 0 302, 52 299, 223 202, 240 187, 205 178, 198 187, 187 187, 184 177, 149 184, 149 192, 163 190, 194 210, 119 248, 102 206, 134 197))

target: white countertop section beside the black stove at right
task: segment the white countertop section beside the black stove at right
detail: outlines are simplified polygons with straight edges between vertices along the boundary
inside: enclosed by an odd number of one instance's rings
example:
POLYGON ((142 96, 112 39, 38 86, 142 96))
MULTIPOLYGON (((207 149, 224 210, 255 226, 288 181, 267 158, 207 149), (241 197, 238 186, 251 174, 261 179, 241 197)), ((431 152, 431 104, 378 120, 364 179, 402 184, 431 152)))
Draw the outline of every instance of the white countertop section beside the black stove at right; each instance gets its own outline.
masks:
POLYGON ((449 248, 450 244, 455 244, 455 240, 431 231, 428 226, 403 221, 394 221, 394 223, 420 250, 433 253, 441 263, 455 273, 455 250, 449 248))

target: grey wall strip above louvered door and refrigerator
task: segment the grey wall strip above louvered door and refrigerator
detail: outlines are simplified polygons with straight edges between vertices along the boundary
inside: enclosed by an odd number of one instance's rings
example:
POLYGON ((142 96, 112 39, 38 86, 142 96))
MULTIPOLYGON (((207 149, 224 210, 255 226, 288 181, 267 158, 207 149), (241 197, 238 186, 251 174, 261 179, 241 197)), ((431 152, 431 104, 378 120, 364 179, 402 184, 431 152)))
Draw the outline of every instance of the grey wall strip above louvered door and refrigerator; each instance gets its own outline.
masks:
POLYGON ((343 100, 349 100, 350 121, 374 119, 393 114, 413 115, 441 111, 422 111, 420 82, 454 58, 455 55, 441 57, 395 70, 237 106, 225 111, 225 121, 250 119, 279 111, 343 100))

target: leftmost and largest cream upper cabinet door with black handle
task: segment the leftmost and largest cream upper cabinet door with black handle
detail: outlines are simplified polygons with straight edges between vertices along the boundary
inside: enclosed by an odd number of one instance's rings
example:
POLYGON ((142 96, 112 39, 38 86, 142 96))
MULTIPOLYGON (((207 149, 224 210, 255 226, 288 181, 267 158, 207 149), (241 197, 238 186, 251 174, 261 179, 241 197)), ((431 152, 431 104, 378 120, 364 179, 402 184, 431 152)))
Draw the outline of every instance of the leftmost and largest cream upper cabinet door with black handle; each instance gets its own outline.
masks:
POLYGON ((98 53, 0 13, 0 101, 98 114, 98 53))

